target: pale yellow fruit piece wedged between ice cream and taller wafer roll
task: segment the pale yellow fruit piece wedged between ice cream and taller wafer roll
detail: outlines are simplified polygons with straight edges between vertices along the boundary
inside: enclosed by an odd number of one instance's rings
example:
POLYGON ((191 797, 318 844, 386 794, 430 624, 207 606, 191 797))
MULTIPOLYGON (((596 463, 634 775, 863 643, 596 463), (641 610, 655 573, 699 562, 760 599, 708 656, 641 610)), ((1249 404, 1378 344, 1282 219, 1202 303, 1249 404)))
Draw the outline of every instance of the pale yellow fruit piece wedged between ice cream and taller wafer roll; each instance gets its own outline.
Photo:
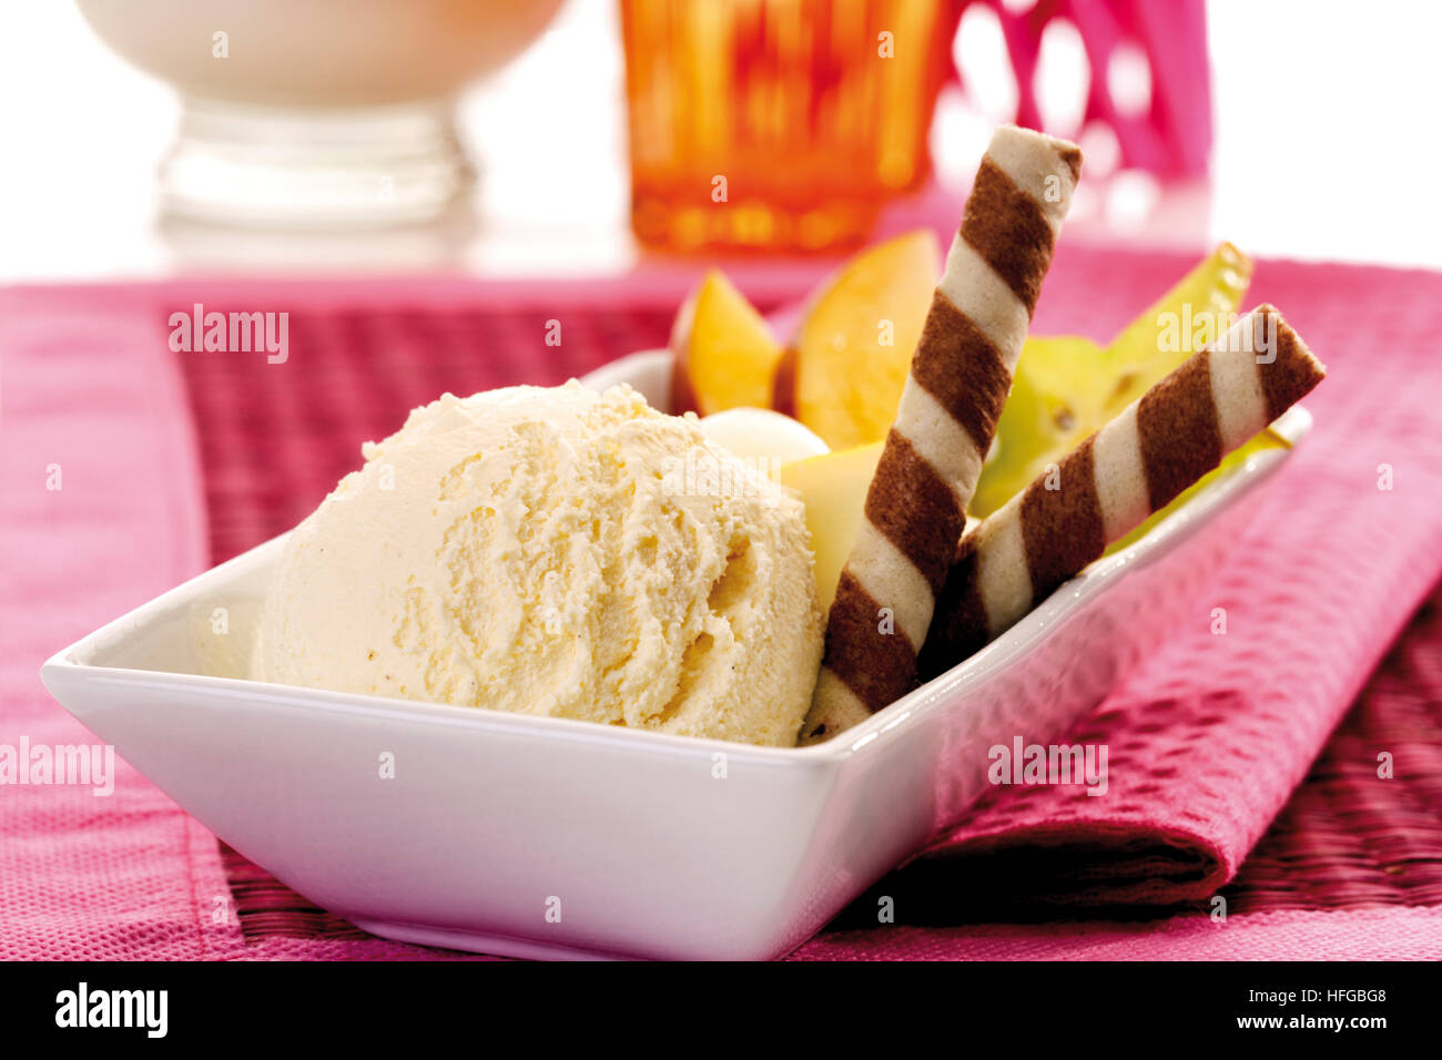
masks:
POLYGON ((851 555, 867 508, 867 489, 881 460, 884 441, 796 460, 776 469, 783 486, 806 502, 806 528, 816 554, 816 593, 822 614, 836 597, 841 568, 851 555))

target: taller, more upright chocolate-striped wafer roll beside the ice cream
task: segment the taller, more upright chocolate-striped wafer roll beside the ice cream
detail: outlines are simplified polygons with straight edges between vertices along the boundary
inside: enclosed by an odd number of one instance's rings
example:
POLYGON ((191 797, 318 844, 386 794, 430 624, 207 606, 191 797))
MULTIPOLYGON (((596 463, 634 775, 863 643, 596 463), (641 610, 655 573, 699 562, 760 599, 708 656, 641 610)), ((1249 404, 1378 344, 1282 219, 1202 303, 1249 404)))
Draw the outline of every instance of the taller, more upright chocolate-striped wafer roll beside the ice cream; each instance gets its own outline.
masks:
POLYGON ((976 172, 842 570, 802 743, 916 684, 917 652, 1082 172, 1076 144, 1004 125, 976 172))

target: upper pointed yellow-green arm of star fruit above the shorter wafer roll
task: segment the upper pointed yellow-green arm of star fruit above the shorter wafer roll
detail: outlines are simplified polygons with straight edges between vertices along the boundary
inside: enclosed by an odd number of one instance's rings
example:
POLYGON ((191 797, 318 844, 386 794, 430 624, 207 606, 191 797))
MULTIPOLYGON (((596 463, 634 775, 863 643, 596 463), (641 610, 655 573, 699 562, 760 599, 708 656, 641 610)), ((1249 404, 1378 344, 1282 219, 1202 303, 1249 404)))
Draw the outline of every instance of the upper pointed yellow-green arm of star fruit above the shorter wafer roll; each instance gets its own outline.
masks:
POLYGON ((1113 389, 1102 423, 1226 330, 1242 307, 1252 271, 1252 260, 1224 242, 1112 340, 1102 371, 1113 389))

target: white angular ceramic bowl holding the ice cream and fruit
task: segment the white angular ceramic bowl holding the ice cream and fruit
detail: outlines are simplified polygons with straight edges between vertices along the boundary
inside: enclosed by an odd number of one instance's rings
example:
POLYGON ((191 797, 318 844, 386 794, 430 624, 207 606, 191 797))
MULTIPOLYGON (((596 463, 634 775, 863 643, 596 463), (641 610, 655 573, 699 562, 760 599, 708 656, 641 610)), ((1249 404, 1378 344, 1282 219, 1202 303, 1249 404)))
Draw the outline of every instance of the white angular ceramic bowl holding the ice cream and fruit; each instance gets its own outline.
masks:
MULTIPOLYGON (((665 408, 668 371, 668 355, 639 353, 588 382, 629 381, 665 408)), ((1292 410, 1278 428, 1296 441, 1309 424, 1292 410)), ((986 786, 989 747, 1054 743, 1181 616, 1204 622, 1200 588, 1286 457, 1253 456, 985 650, 809 748, 215 676, 244 672, 284 538, 56 653, 43 678, 216 835, 376 935, 513 956, 774 958, 955 821, 986 786), (386 753, 394 779, 379 777, 386 753)))

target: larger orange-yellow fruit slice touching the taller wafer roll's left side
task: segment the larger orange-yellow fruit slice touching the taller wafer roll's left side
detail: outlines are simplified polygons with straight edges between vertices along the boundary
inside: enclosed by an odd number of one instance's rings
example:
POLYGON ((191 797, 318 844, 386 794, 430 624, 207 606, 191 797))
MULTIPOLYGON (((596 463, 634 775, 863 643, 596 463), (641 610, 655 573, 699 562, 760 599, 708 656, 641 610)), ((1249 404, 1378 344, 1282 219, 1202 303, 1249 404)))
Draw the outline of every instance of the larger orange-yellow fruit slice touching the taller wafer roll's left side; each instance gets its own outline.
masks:
POLYGON ((927 231, 862 251, 812 300, 776 407, 835 450, 880 441, 895 418, 936 288, 940 248, 927 231))

